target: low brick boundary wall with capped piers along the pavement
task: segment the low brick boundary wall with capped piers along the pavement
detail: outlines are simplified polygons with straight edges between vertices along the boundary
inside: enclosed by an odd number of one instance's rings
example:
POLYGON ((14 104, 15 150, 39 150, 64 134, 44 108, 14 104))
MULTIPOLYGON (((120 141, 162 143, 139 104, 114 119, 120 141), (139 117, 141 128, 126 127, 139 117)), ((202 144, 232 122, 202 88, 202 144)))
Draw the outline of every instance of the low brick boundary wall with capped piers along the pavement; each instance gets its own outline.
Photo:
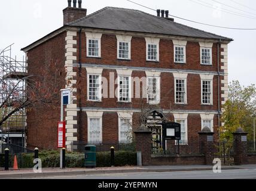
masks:
MULTIPOLYGON (((198 155, 151 155, 151 133, 145 130, 135 131, 136 151, 142 154, 142 165, 213 165, 214 133, 209 128, 203 128, 199 132, 198 155)), ((256 164, 256 153, 247 153, 247 133, 238 128, 233 135, 234 164, 256 164)))

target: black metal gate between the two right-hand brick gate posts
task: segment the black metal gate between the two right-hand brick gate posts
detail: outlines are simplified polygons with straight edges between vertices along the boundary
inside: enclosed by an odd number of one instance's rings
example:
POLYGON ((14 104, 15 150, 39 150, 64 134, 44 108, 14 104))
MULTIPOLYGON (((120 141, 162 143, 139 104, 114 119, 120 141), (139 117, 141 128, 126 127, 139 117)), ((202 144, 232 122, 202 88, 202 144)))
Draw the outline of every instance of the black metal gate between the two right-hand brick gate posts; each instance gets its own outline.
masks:
POLYGON ((214 143, 214 158, 221 160, 223 165, 234 165, 233 141, 217 141, 214 143))

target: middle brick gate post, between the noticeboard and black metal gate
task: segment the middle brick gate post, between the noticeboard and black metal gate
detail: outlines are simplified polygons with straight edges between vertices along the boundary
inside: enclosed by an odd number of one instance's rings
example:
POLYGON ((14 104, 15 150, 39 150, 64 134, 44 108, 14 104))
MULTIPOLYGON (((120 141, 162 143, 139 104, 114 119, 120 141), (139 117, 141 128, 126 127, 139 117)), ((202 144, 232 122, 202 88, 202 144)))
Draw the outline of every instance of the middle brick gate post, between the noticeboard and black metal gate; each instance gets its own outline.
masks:
POLYGON ((214 132, 205 127, 198 134, 199 152, 205 155, 205 164, 212 165, 212 161, 214 161, 214 132))

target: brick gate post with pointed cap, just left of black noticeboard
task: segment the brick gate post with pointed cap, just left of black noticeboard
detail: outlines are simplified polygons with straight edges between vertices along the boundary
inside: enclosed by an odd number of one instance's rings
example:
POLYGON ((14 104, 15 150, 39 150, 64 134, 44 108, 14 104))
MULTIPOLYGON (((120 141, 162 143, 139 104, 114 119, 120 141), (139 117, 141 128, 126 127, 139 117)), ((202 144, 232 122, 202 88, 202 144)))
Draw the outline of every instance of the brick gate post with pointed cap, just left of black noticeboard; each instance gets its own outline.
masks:
POLYGON ((135 133, 135 143, 136 143, 136 152, 141 152, 142 165, 151 164, 151 140, 152 140, 152 131, 148 130, 145 125, 134 131, 135 133))

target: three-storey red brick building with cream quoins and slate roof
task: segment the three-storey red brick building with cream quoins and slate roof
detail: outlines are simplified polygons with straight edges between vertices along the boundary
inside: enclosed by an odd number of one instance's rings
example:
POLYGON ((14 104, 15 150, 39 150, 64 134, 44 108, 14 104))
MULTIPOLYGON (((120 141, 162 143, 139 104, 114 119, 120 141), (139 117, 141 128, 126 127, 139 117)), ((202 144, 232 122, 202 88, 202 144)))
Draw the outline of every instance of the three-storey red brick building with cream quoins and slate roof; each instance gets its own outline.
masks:
MULTIPOLYGON (((65 109, 68 150, 129 142, 145 108, 181 123, 188 143, 205 126, 218 135, 232 39, 176 23, 163 10, 153 16, 105 7, 87 16, 81 1, 78 8, 68 2, 63 27, 23 48, 29 74, 39 75, 52 60, 66 68, 59 90, 71 88, 65 109)), ((28 146, 57 149, 60 107, 41 107, 27 116, 28 146)), ((145 125, 160 135, 151 117, 149 112, 145 125)))

